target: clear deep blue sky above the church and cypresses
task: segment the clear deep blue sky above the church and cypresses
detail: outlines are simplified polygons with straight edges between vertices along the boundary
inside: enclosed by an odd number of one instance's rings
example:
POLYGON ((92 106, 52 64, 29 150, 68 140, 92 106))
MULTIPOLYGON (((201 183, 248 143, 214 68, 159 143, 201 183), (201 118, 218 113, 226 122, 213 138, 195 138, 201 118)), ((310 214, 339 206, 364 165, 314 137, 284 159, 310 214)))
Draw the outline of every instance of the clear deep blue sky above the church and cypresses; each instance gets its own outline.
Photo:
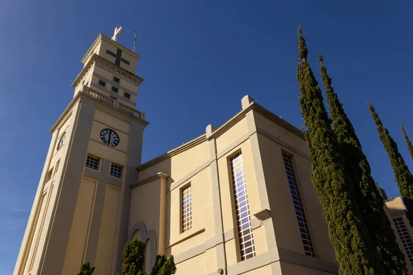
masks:
POLYGON ((138 31, 137 109, 147 113, 143 161, 220 126, 246 94, 303 124, 295 78, 297 27, 310 64, 325 56, 374 179, 399 195, 366 101, 407 153, 413 3, 392 1, 12 1, 0 2, 0 273, 11 274, 39 183, 50 127, 73 96, 81 58, 100 32, 131 48, 138 31), (370 2, 370 3, 367 3, 370 2))

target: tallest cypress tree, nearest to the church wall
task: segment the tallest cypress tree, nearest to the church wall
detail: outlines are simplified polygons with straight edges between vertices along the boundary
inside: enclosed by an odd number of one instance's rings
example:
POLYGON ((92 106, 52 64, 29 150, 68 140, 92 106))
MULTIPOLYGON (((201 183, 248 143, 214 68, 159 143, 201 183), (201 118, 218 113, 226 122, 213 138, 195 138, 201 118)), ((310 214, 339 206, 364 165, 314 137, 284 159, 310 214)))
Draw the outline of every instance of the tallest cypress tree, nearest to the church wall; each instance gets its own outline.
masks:
POLYGON ((307 126, 306 141, 312 164, 311 179, 324 208, 328 233, 340 274, 384 274, 375 257, 361 213, 354 203, 354 189, 344 170, 337 137, 332 132, 323 96, 307 61, 308 50, 299 28, 297 80, 299 103, 307 126))

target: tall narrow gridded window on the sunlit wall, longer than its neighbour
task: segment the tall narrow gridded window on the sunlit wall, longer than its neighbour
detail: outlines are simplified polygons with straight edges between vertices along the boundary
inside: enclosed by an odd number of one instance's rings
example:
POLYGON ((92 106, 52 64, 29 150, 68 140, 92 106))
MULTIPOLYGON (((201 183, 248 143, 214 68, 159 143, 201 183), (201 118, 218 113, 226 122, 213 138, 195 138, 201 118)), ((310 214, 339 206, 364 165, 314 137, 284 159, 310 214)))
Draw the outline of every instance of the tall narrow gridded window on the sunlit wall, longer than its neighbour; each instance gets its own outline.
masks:
POLYGON ((253 229, 249 213, 248 197, 246 195, 246 181, 242 154, 237 153, 231 158, 231 173, 237 216, 238 239, 240 241, 241 261, 255 256, 253 229))

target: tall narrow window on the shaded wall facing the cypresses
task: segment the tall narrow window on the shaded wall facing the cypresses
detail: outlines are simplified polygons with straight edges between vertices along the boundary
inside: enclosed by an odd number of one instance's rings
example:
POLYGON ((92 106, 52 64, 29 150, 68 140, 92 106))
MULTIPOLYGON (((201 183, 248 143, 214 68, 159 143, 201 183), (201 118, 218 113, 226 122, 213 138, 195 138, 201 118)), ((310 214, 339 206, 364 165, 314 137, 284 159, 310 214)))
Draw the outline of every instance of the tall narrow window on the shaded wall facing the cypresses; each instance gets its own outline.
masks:
POLYGON ((284 166, 286 167, 288 184, 290 186, 291 197, 293 197, 295 215, 297 216, 299 232, 301 233, 301 241, 303 242, 304 246, 304 252, 306 252, 307 256, 315 257, 310 230, 308 230, 306 214, 304 214, 304 207, 301 201, 301 196, 299 195, 297 179, 295 179, 293 162, 291 162, 291 157, 284 153, 282 154, 282 158, 284 159, 284 166))

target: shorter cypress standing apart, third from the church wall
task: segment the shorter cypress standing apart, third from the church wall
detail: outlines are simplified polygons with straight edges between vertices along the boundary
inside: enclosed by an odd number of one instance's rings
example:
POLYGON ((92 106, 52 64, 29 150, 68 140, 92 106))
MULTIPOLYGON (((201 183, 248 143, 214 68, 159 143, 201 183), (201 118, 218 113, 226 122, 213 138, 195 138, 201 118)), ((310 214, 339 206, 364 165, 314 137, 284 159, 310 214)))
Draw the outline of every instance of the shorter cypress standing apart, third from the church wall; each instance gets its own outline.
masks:
POLYGON ((409 219, 410 225, 413 226, 413 176, 410 173, 409 168, 405 164, 401 153, 399 153, 399 148, 397 148, 396 142, 390 136, 388 129, 385 129, 383 123, 377 115, 372 103, 368 102, 368 107, 372 113, 374 122, 377 125, 377 131, 379 131, 379 137, 385 151, 387 151, 390 164, 393 168, 394 179, 396 180, 397 186, 399 186, 399 191, 401 197, 403 197, 403 202, 405 203, 407 212, 406 216, 409 219))

